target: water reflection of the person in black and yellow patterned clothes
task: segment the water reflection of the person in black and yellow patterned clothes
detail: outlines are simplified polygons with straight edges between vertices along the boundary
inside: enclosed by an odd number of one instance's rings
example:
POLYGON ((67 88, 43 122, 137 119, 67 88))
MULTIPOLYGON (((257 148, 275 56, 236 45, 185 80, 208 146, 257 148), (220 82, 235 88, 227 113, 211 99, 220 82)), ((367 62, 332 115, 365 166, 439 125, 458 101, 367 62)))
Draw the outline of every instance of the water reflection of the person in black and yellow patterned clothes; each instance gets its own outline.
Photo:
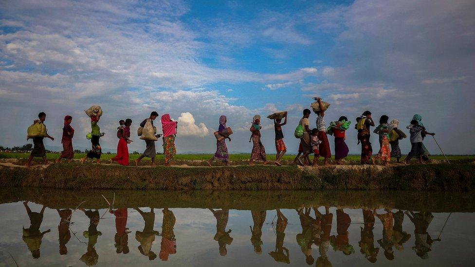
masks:
POLYGON ((365 258, 370 263, 375 263, 377 260, 377 256, 379 253, 379 248, 374 247, 374 215, 376 214, 376 210, 368 211, 363 210, 363 221, 365 222, 365 227, 361 228, 361 241, 358 242, 360 244, 360 252, 365 255, 365 258))

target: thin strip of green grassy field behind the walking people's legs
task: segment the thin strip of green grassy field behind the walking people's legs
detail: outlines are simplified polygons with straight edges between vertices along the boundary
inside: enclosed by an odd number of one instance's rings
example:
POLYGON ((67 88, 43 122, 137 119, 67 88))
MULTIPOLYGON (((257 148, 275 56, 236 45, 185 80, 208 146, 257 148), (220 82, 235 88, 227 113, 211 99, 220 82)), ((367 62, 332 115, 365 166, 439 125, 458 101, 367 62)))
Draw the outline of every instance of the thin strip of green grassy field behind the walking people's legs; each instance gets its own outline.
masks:
MULTIPOLYGON (((0 159, 27 159, 29 153, 0 153, 0 159)), ((48 160, 55 160, 59 157, 59 153, 47 153, 46 158, 48 160)), ((86 156, 86 154, 74 154, 74 159, 80 159, 86 156)), ((135 160, 140 156, 140 154, 130 154, 129 159, 135 160)), ((212 154, 177 154, 175 160, 209 160, 212 154)), ((229 160, 249 160, 250 154, 230 154, 229 160)), ((101 160, 110 160, 115 157, 115 154, 102 154, 101 160)), ((404 158, 405 156, 403 156, 404 158)), ((268 160, 275 160, 274 154, 267 155, 268 160)), ((293 160, 295 155, 285 155, 283 160, 293 160)), ((447 155, 449 160, 475 160, 475 155, 447 155)), ((156 160, 163 160, 164 155, 157 155, 156 160)), ((431 156, 432 160, 444 160, 442 155, 433 155, 431 156)), ((145 158, 144 160, 150 160, 145 158)), ((359 161, 360 155, 348 155, 347 160, 350 161, 359 161)))

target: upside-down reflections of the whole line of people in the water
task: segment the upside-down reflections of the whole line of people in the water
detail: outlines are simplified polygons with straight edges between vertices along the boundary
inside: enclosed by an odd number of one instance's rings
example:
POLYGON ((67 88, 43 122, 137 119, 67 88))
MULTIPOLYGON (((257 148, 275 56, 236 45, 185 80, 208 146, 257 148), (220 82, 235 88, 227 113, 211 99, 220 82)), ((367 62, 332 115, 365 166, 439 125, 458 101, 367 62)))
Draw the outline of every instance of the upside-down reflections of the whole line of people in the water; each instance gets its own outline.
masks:
MULTIPOLYGON (((32 212, 28 206, 28 201, 23 202, 27 214, 30 218, 30 227, 23 228, 23 241, 28 246, 28 249, 32 253, 34 258, 40 257, 40 246, 43 236, 50 232, 40 231, 41 223, 43 220, 43 214, 45 207, 43 206, 41 211, 32 212)), ((318 246, 319 257, 317 258, 317 266, 330 265, 327 255, 330 246, 334 251, 342 251, 344 255, 351 255, 355 253, 355 250, 351 244, 349 244, 349 226, 352 224, 350 216, 345 213, 341 208, 336 209, 336 235, 331 235, 331 229, 333 224, 333 214, 330 212, 330 207, 324 207, 325 213, 322 214, 318 207, 311 208, 299 208, 295 209, 300 221, 302 231, 296 235, 296 241, 300 247, 302 253, 305 256, 307 264, 312 265, 315 260, 312 256, 312 246, 318 246), (311 216, 313 210, 314 216, 311 216)), ((86 263, 88 266, 95 265, 98 262, 99 255, 95 249, 98 237, 102 235, 101 231, 97 230, 99 222, 104 215, 100 217, 98 210, 85 210, 80 209, 89 218, 89 227, 87 231, 83 232, 83 237, 87 239, 87 251, 84 253, 80 260, 86 263)), ((133 208, 138 212, 144 220, 144 229, 142 231, 135 232, 135 239, 140 244, 138 251, 148 257, 149 260, 156 259, 157 255, 152 250, 155 236, 162 236, 160 244, 159 258, 163 261, 167 261, 169 255, 176 253, 176 236, 174 227, 176 223, 175 215, 168 208, 164 208, 162 232, 154 230, 155 213, 154 209, 150 208, 149 212, 144 212, 139 208, 133 208)), ((213 239, 218 242, 219 255, 226 256, 227 246, 231 245, 233 238, 230 236, 231 230, 227 229, 229 220, 229 210, 213 210, 209 209, 213 216, 216 218, 216 234, 213 239)), ((73 211, 71 209, 57 209, 60 217, 58 225, 59 235, 59 254, 65 255, 68 253, 66 247, 67 243, 75 232, 70 229, 72 225, 73 211)), ((290 263, 289 249, 284 247, 285 230, 289 221, 287 217, 279 210, 276 209, 276 218, 271 223, 275 233, 275 249, 269 252, 269 255, 276 261, 282 263, 290 263)), ((128 233, 131 231, 127 227, 128 209, 110 209, 110 214, 115 217, 116 233, 114 235, 114 242, 116 253, 128 254, 130 251, 128 247, 128 233)), ((388 260, 394 259, 393 248, 397 250, 403 249, 403 244, 407 242, 411 234, 402 230, 402 223, 404 220, 404 214, 414 224, 415 230, 415 246, 412 248, 416 254, 422 258, 428 258, 428 252, 431 251, 431 245, 434 241, 440 241, 440 239, 432 239, 427 229, 432 222, 434 215, 430 212, 418 212, 412 211, 403 212, 398 210, 392 212, 389 209, 385 209, 384 213, 379 214, 376 210, 362 209, 363 214, 363 226, 360 227, 360 241, 358 245, 360 247, 360 253, 371 263, 377 261, 380 248, 384 249, 384 256, 388 260), (375 247, 375 240, 373 229, 375 225, 375 218, 378 218, 383 226, 382 238, 377 240, 380 248, 375 247)), ((262 253, 262 227, 265 224, 267 211, 265 210, 253 210, 251 211, 253 226, 250 226, 251 230, 251 244, 254 247, 256 254, 262 253)), ((80 242, 79 237, 75 236, 80 242)), ((85 243, 85 242, 83 242, 85 243)), ((86 243, 85 243, 86 244, 86 243)))

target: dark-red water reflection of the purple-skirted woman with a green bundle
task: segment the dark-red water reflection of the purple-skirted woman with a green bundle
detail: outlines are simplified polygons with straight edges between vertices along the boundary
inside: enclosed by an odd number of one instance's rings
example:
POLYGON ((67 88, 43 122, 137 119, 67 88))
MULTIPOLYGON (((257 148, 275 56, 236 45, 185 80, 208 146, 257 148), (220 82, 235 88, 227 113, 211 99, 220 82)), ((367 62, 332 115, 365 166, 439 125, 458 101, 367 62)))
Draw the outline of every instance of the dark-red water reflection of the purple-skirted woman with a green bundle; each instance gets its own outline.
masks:
POLYGON ((337 235, 330 237, 331 246, 335 251, 343 251, 345 255, 350 255, 355 252, 353 246, 348 242, 348 228, 351 224, 351 218, 343 209, 336 210, 336 232, 337 235))

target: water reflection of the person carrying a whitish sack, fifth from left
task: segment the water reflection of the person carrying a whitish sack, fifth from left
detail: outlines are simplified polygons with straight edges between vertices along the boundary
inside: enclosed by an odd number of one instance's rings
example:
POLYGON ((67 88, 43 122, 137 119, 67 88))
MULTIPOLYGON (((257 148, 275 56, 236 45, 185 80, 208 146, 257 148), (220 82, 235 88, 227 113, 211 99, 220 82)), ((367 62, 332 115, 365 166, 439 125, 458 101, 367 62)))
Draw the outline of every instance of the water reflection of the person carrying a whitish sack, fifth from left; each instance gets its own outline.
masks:
POLYGON ((155 241, 155 235, 159 234, 158 231, 153 230, 155 213, 153 212, 153 208, 151 208, 148 213, 144 213, 139 208, 134 208, 134 210, 139 212, 145 221, 144 230, 135 232, 135 239, 140 243, 138 249, 142 255, 147 256, 150 261, 153 261, 157 258, 157 254, 152 251, 152 245, 153 241, 155 241))

